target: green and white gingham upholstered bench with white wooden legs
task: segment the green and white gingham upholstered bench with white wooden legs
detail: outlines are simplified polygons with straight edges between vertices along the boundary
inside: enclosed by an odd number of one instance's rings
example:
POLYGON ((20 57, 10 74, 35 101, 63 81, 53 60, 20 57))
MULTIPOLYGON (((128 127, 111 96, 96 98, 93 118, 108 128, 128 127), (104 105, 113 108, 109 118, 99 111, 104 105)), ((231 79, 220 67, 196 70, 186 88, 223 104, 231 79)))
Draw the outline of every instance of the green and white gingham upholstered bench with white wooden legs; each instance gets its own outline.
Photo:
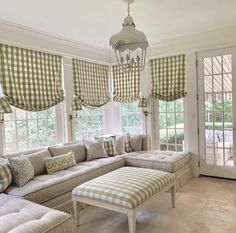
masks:
POLYGON ((79 185, 72 192, 76 225, 80 202, 128 215, 129 232, 135 232, 136 212, 155 194, 171 189, 175 207, 175 175, 147 168, 123 167, 79 185))

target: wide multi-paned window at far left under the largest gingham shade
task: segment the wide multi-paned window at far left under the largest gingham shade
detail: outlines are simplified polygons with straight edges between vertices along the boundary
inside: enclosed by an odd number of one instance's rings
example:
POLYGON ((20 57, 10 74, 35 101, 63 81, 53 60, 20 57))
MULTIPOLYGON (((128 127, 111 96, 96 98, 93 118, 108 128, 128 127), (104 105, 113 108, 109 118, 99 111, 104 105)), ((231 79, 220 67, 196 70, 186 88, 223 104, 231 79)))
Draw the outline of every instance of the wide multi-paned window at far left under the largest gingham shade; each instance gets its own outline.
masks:
POLYGON ((41 112, 12 107, 12 111, 4 116, 6 153, 56 143, 55 107, 41 112))

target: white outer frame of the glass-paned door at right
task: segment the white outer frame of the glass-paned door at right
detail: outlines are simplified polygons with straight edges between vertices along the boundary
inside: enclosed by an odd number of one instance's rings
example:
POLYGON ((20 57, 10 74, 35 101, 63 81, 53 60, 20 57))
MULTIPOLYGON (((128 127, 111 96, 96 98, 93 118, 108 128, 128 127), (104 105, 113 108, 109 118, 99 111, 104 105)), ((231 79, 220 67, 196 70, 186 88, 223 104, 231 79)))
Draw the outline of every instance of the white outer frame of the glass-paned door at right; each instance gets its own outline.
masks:
MULTIPOLYGON (((198 59, 198 94, 199 94, 199 152, 200 152, 200 174, 225 177, 236 179, 236 132, 233 132, 233 152, 234 152, 234 166, 219 166, 219 165, 208 165, 205 162, 205 111, 204 111, 204 57, 211 57, 217 55, 232 54, 232 89, 236 90, 236 47, 227 49, 218 49, 214 51, 200 52, 197 55, 198 59)), ((236 126, 236 91, 233 94, 233 127, 236 126)))

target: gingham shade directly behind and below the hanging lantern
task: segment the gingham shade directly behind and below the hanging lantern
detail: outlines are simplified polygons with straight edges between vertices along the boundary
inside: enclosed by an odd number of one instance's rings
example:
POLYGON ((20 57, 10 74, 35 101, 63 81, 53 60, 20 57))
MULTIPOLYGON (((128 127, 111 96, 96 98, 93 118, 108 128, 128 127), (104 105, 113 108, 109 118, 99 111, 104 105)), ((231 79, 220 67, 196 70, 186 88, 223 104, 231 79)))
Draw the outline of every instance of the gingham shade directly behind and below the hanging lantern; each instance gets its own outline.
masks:
POLYGON ((139 99, 140 72, 130 71, 124 73, 119 66, 112 67, 113 95, 116 102, 127 103, 139 99))

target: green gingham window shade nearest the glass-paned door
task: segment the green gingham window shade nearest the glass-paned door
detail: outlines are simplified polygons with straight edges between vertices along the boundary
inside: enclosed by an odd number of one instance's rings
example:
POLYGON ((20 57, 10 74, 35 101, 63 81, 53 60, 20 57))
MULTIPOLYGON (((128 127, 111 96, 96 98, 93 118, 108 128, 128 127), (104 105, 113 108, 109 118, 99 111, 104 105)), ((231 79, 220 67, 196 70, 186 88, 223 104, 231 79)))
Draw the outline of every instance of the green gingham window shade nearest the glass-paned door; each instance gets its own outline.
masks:
POLYGON ((150 66, 153 97, 173 101, 187 95, 185 55, 154 59, 150 66))

